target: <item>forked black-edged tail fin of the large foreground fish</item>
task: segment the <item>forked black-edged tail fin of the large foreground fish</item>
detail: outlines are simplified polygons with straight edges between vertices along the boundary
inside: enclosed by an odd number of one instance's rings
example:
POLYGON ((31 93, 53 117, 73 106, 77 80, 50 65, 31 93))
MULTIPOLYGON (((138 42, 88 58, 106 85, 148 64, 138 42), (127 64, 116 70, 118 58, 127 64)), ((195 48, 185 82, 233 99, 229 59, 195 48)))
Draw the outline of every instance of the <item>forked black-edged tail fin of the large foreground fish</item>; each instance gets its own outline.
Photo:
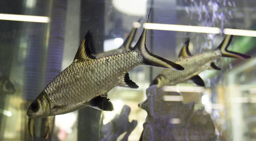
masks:
MULTIPOLYGON (((151 9, 150 9, 151 11, 151 9)), ((150 14, 149 11, 149 14, 150 14)), ((149 17, 148 14, 148 17, 149 17)), ((148 18, 146 23, 148 23, 148 18)), ((160 56, 151 54, 147 47, 146 47, 146 29, 143 28, 142 34, 140 35, 140 39, 137 41, 134 48, 132 48, 133 51, 139 52, 143 56, 143 63, 144 65, 154 66, 154 67, 160 67, 160 68, 168 68, 173 70, 182 71, 184 68, 178 64, 175 64, 174 62, 171 62, 169 60, 166 60, 160 56)))

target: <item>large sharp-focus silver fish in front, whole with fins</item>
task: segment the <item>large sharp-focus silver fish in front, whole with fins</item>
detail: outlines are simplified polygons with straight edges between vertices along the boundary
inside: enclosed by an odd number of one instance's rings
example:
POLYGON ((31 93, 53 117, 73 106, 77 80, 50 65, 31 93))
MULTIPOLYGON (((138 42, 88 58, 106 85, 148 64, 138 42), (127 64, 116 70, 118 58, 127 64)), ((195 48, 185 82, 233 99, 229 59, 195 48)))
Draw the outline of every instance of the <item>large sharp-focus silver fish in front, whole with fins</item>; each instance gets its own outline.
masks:
POLYGON ((72 64, 44 88, 29 106, 27 116, 43 118, 70 113, 88 106, 113 111, 113 104, 105 94, 116 86, 138 88, 129 78, 128 72, 132 68, 149 65, 184 70, 182 66, 148 51, 145 46, 146 29, 143 29, 140 39, 131 51, 100 59, 96 59, 90 51, 89 38, 90 31, 82 40, 72 64))

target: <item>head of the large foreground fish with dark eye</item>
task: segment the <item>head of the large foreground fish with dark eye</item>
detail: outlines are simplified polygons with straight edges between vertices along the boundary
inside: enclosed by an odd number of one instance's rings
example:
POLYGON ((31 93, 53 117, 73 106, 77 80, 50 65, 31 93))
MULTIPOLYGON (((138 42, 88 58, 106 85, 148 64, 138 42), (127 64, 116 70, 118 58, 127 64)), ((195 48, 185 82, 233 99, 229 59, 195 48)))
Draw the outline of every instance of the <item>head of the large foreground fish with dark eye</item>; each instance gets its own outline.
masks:
POLYGON ((44 90, 42 93, 30 104, 27 110, 29 118, 45 118, 50 116, 50 103, 44 90))

